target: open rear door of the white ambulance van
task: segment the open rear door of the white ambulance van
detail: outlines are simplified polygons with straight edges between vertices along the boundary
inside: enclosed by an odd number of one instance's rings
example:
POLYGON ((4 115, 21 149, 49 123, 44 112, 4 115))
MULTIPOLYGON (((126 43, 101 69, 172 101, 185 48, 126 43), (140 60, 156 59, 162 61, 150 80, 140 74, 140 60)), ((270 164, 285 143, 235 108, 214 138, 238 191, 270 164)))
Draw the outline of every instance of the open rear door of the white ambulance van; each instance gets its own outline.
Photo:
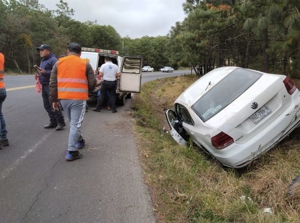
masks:
POLYGON ((121 65, 119 90, 140 93, 142 75, 142 56, 124 56, 121 65))

